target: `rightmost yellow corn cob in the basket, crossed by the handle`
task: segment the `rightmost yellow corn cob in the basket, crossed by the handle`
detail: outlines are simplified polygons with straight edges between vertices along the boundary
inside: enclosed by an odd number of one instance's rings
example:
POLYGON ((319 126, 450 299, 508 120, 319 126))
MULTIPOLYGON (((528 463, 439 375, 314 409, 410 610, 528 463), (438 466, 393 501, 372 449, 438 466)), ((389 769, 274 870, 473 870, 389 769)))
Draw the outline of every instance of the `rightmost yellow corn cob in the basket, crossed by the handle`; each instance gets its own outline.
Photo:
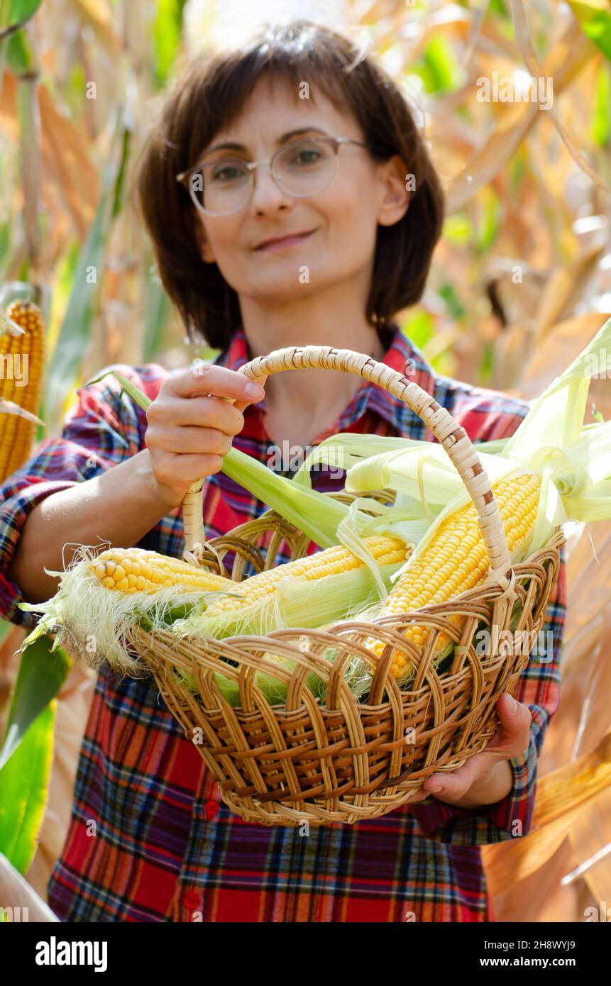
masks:
MULTIPOLYGON (((493 484, 496 503, 502 519, 509 554, 527 544, 537 516, 541 476, 522 473, 499 480, 493 484)), ((391 613, 408 613, 421 606, 454 599, 474 589, 486 578, 489 559, 479 528, 477 512, 473 504, 462 507, 443 521, 432 536, 420 557, 399 577, 391 593, 384 601, 380 616, 391 613)), ((451 617, 458 623, 460 617, 451 617)), ((428 628, 412 624, 403 635, 417 646, 423 646, 428 628)), ((440 634, 436 648, 443 650, 450 642, 440 634)), ((366 646, 381 656, 385 645, 369 639, 366 646)), ((395 653, 391 670, 399 680, 410 671, 409 659, 395 653)))

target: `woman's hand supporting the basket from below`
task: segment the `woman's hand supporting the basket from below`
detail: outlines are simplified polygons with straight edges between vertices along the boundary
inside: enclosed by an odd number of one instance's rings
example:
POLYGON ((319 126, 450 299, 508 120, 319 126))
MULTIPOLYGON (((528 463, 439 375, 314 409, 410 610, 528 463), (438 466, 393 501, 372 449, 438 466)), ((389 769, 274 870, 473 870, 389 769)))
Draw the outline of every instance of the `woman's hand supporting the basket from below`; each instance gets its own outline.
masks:
POLYGON ((508 761, 528 747, 532 713, 527 705, 503 693, 496 702, 496 714, 500 726, 486 749, 456 770, 431 774, 410 804, 434 795, 447 805, 470 809, 496 805, 509 794, 513 774, 508 761))

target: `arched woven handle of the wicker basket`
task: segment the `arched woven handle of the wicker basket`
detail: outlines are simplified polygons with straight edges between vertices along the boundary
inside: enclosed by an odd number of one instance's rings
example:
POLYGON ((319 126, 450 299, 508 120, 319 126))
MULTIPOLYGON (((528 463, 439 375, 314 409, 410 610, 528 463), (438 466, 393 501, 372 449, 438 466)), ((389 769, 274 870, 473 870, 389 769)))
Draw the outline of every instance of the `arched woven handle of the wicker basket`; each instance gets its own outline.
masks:
MULTIPOLYGON (((456 466, 478 514, 478 523, 491 562, 490 575, 503 591, 501 596, 513 594, 514 575, 511 568, 507 540, 498 512, 491 481, 464 428, 444 407, 418 384, 379 363, 370 356, 351 349, 334 349, 333 346, 289 346, 274 349, 267 356, 258 356, 239 368, 238 373, 250 380, 259 380, 282 370, 320 368, 340 370, 363 377, 378 387, 383 387, 403 400, 430 429, 449 458, 456 466)), ((185 521, 185 557, 195 561, 199 557, 205 535, 201 489, 203 479, 191 484, 183 501, 185 521)))

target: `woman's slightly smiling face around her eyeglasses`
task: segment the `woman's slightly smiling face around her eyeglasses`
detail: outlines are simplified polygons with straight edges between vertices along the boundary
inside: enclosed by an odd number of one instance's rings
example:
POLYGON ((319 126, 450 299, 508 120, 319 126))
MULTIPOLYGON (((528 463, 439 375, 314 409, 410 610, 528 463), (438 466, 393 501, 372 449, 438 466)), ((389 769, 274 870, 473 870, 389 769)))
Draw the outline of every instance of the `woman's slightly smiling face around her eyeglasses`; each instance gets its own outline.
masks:
MULTIPOLYGON (((240 116, 218 131, 202 154, 208 160, 216 144, 231 141, 245 150, 225 155, 245 161, 268 159, 284 134, 309 126, 330 137, 364 139, 356 121, 322 92, 317 91, 316 104, 295 100, 286 83, 276 82, 271 89, 264 79, 240 116)), ((223 155, 212 157, 218 156, 223 155)), ((241 212, 217 217, 195 210, 202 259, 218 264, 238 296, 272 304, 294 299, 296 292, 317 292, 341 282, 354 291, 362 279, 363 298, 367 297, 377 225, 393 225, 408 207, 405 166, 399 157, 376 164, 354 144, 342 146, 339 158, 335 180, 313 197, 286 194, 268 165, 262 165, 255 172, 253 197, 241 212), (264 240, 303 233, 309 235, 280 248, 258 248, 264 240)))

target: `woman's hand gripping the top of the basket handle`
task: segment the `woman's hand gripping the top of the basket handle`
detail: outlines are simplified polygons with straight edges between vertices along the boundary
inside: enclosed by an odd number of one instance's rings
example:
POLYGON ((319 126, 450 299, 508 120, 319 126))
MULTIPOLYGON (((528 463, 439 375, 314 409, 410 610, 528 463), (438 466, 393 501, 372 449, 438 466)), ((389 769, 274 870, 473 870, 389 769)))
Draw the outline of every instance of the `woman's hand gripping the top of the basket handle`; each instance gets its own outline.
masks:
POLYGON ((162 503, 179 507, 194 480, 219 471, 244 427, 242 411, 264 395, 259 384, 214 363, 169 374, 146 411, 145 444, 162 503))

